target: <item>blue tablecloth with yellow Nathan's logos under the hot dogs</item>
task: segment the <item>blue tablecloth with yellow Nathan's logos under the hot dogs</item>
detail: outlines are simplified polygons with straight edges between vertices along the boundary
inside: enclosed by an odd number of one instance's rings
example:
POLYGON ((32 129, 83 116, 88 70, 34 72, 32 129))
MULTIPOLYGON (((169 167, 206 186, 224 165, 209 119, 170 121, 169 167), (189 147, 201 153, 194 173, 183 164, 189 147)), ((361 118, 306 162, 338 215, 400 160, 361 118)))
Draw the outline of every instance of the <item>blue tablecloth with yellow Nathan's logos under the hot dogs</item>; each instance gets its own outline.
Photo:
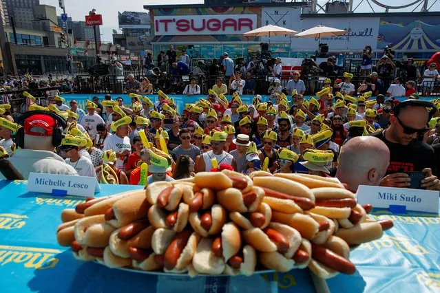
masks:
MULTIPOLYGON (((25 181, 0 181, 0 292, 313 292, 308 270, 247 277, 164 277, 83 263, 56 243, 61 211, 83 197, 30 193, 25 181), (266 280, 266 281, 265 281, 266 280), (273 292, 273 291, 272 291, 273 292)), ((96 196, 141 186, 101 185, 96 196)), ((356 274, 328 280, 331 292, 439 292, 440 217, 375 210, 377 219, 392 219, 384 237, 351 253, 356 274)))

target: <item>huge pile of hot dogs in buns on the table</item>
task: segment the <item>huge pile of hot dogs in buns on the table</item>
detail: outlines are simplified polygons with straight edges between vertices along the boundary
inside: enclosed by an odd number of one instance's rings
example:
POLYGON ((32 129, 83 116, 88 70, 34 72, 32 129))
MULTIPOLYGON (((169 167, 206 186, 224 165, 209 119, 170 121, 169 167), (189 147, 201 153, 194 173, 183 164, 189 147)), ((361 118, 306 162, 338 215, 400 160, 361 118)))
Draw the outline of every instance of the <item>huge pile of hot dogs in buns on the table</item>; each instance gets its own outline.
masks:
POLYGON ((392 227, 371 221, 371 209, 331 179, 224 170, 87 199, 63 211, 57 239, 110 268, 249 276, 308 267, 327 279, 355 273, 350 248, 392 227))

